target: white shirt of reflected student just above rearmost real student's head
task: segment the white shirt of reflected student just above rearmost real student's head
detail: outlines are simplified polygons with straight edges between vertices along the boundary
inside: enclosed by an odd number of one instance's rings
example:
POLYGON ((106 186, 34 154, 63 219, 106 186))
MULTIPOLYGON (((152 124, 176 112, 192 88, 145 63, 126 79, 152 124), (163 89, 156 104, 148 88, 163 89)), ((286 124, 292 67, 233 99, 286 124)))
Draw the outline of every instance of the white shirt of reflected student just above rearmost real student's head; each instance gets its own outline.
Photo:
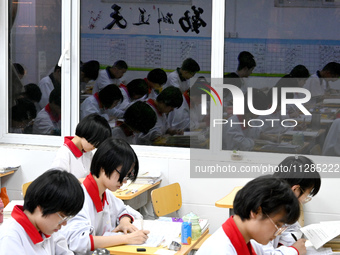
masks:
POLYGON ((80 118, 83 119, 91 113, 98 113, 100 116, 104 117, 107 121, 110 120, 109 110, 104 109, 102 106, 98 93, 89 96, 80 105, 80 118))

